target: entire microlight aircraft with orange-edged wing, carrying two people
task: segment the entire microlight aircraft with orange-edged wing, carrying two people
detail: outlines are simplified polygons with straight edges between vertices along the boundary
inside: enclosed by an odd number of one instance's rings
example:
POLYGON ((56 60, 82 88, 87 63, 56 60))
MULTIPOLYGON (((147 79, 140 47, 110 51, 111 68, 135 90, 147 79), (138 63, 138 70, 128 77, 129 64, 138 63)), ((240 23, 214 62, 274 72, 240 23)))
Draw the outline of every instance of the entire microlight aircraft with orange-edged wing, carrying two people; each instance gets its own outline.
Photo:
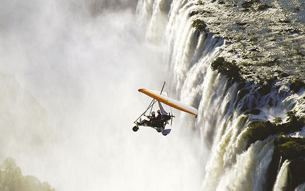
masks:
POLYGON ((148 95, 149 97, 153 98, 153 101, 150 102, 149 106, 147 107, 147 109, 142 113, 142 115, 140 115, 136 120, 135 120, 135 126, 133 127, 133 131, 137 132, 139 130, 139 126, 149 126, 150 128, 154 128, 155 130, 157 130, 158 133, 162 133, 162 135, 166 136, 170 133, 171 129, 165 129, 166 124, 169 124, 169 120, 171 120, 170 125, 172 124, 172 120, 173 120, 173 116, 171 113, 167 113, 162 104, 168 105, 170 107, 173 107, 175 109, 178 109, 180 111, 184 111, 187 113, 190 113, 192 115, 195 115, 195 117, 197 117, 198 115, 198 110, 195 109, 192 106, 189 106, 187 104, 181 103, 179 101, 173 100, 171 98, 168 98, 164 95, 162 95, 162 91, 164 89, 165 86, 165 82, 163 84, 163 87, 161 89, 161 92, 159 93, 158 91, 154 91, 154 90, 148 90, 148 89, 138 89, 139 92, 144 93, 146 95, 148 95), (151 112, 153 110, 153 106, 155 103, 158 102, 159 108, 160 108, 160 114, 161 114, 161 118, 157 119, 154 116, 155 112, 151 112), (153 113, 152 115, 145 115, 146 112, 150 110, 149 113, 153 113), (142 120, 141 117, 147 117, 149 120, 142 120), (139 120, 139 121, 138 121, 139 120))

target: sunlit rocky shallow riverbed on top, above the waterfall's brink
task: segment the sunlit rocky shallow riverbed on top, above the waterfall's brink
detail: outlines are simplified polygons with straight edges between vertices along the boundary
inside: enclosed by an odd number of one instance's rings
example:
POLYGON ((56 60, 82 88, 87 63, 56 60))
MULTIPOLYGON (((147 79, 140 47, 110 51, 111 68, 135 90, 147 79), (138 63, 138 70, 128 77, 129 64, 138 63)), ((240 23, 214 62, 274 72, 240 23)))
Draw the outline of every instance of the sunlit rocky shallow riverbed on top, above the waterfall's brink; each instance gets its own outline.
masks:
POLYGON ((247 80, 305 79, 305 2, 202 0, 190 16, 225 39, 223 56, 236 60, 247 80))

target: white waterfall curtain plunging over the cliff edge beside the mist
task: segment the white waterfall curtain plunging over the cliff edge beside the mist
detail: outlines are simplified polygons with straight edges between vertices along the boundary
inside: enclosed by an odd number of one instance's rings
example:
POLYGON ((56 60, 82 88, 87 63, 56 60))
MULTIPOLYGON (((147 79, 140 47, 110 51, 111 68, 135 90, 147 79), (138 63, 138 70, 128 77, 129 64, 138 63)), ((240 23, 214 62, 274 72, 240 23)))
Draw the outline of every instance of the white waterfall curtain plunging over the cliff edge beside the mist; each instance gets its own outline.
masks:
MULTIPOLYGON (((154 9, 159 2, 151 2, 154 6, 150 6, 150 12, 156 12, 154 9)), ((180 120, 189 121, 184 124, 199 133, 202 147, 208 148, 203 149, 209 156, 203 162, 201 189, 264 190, 275 136, 256 141, 247 148, 243 135, 251 121, 272 121, 277 116, 285 121, 285 113, 293 109, 301 114, 305 105, 302 93, 289 94, 287 83, 282 83, 279 89, 272 88, 268 94, 261 95, 256 84, 241 86, 211 71, 211 61, 226 54, 226 41, 192 27, 197 16, 190 16, 190 12, 196 6, 197 1, 171 2, 164 41, 168 68, 172 73, 172 91, 177 99, 199 110, 196 120, 184 114, 180 120), (245 89, 249 93, 241 97, 240 92, 245 89), (252 109, 259 109, 260 113, 249 114, 252 109)), ((154 18, 151 18, 153 22, 154 18)), ((277 184, 280 184, 278 180, 277 184)))

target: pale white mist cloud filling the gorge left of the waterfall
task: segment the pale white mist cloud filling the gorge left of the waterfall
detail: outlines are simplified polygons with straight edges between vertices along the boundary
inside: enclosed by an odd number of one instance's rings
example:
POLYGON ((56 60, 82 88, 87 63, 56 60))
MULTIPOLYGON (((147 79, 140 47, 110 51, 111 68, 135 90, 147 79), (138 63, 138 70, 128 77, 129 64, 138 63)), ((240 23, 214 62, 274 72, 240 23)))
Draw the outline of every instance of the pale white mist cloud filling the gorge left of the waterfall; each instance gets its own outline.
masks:
POLYGON ((201 143, 178 114, 167 137, 132 132, 137 89, 171 78, 133 5, 0 2, 2 160, 56 190, 199 189, 201 143))

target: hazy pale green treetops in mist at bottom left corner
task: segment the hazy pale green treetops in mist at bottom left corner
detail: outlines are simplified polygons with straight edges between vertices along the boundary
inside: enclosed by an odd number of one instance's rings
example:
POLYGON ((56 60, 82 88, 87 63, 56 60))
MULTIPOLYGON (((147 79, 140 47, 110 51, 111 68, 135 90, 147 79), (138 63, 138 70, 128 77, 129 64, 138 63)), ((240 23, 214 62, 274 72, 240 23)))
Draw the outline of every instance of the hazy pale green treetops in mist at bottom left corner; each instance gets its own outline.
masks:
POLYGON ((21 169, 13 158, 6 158, 0 168, 0 190, 2 191, 54 191, 54 188, 35 176, 22 176, 21 169))

